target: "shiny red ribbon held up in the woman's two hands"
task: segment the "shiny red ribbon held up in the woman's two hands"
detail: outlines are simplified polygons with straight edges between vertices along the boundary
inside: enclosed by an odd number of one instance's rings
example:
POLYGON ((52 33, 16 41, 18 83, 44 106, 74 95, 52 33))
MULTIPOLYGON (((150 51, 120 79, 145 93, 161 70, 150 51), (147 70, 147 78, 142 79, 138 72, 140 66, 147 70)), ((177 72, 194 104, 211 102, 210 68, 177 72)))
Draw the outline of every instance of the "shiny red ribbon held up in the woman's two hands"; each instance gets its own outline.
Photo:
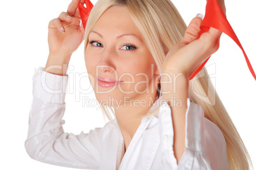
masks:
MULTIPOLYGON (((90 10, 92 10, 92 7, 93 7, 93 4, 90 2, 90 0, 85 0, 85 4, 86 4, 87 8, 85 8, 85 6, 83 6, 82 3, 79 3, 79 5, 78 5, 78 10, 80 12, 80 17, 82 18, 82 24, 83 24, 84 29, 85 29, 85 25, 87 23, 88 17, 90 15, 90 10)), ((243 51, 243 55, 245 55, 245 60, 246 60, 247 66, 250 69, 250 72, 252 73, 253 78, 256 80, 256 75, 255 75, 252 65, 245 53, 245 50, 243 50, 243 46, 239 42, 238 37, 236 36, 236 34, 233 31, 229 22, 227 21, 225 13, 224 13, 224 11, 222 11, 222 8, 220 7, 220 4, 218 4, 217 0, 208 0, 207 1, 206 13, 205 13, 204 19, 201 23, 201 27, 200 27, 201 32, 199 34, 199 37, 204 32, 209 31, 210 27, 218 29, 220 32, 224 32, 238 44, 238 46, 243 51)), ((196 74, 203 68, 203 66, 210 59, 210 57, 208 57, 208 59, 206 59, 203 62, 203 64, 201 64, 201 66, 199 66, 196 69, 196 71, 192 74, 192 76, 190 76, 189 80, 191 80, 192 78, 194 78, 194 76, 196 76, 196 74)))

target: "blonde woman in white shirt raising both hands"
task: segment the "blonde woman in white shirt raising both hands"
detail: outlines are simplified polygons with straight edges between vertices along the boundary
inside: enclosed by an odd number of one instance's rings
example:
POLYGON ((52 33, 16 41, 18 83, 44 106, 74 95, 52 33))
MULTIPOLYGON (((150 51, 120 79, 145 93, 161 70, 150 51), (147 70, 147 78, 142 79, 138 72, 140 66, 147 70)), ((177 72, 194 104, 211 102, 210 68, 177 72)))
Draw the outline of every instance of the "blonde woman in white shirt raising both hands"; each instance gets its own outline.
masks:
POLYGON ((187 28, 169 0, 99 0, 84 31, 78 3, 50 21, 50 54, 33 77, 25 141, 33 159, 84 169, 249 169, 243 141, 208 77, 188 81, 217 51, 221 32, 211 28, 197 39, 202 16, 187 28), (61 118, 67 66, 83 39, 97 101, 115 119, 75 136, 64 133, 61 118))

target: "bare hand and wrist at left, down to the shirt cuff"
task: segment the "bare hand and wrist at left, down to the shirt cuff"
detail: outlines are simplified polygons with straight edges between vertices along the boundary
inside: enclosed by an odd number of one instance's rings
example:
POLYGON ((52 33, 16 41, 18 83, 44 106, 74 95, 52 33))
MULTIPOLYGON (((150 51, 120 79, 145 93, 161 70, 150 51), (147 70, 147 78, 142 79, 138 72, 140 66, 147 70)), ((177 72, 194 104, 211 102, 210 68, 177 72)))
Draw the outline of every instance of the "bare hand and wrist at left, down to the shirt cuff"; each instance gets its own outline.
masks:
POLYGON ((45 71, 52 74, 66 75, 71 55, 83 41, 84 29, 78 4, 84 0, 73 0, 67 12, 49 22, 48 45, 49 56, 45 71))

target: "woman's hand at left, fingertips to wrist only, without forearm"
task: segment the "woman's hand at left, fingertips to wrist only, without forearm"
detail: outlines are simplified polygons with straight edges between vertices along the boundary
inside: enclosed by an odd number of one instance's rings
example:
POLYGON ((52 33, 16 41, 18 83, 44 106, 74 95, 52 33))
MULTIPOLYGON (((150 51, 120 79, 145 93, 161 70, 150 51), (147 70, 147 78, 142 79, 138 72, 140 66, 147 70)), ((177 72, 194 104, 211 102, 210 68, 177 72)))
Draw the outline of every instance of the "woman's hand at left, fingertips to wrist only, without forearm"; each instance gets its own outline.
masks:
MULTIPOLYGON (((71 55, 82 43, 85 31, 83 25, 80 25, 79 3, 80 0, 73 0, 69 4, 67 12, 60 13, 58 18, 49 22, 48 44, 50 53, 71 55)), ((83 2, 81 1, 81 3, 83 2)))

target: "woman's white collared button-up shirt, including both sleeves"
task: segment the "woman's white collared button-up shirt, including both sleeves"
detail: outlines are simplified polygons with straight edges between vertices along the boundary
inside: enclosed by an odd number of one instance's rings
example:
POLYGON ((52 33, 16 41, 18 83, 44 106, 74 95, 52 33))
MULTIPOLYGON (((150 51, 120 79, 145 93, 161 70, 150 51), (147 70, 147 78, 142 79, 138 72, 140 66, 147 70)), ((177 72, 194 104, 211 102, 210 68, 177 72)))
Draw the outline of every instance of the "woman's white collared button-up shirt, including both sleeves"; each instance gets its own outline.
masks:
MULTIPOLYGON (((124 139, 114 119, 103 128, 79 135, 62 129, 68 76, 35 69, 33 101, 25 148, 32 159, 80 169, 230 169, 225 139, 203 107, 187 98, 185 152, 179 164, 173 152, 171 109, 143 118, 124 157, 124 139), (50 90, 52 89, 52 90, 50 90)), ((159 100, 158 100, 159 101, 159 100)), ((150 111, 159 106, 155 102, 150 111)))

